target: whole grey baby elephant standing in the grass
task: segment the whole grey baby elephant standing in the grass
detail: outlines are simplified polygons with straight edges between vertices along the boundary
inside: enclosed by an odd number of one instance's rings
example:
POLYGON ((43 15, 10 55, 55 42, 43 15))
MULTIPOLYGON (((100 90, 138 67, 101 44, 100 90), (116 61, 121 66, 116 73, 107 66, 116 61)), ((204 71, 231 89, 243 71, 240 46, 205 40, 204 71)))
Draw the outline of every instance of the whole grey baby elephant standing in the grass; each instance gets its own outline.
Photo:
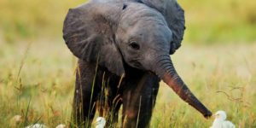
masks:
POLYGON ((172 0, 96 0, 70 9, 63 38, 79 58, 74 125, 89 127, 97 106, 113 126, 122 104, 122 127, 148 127, 160 79, 210 117, 172 65, 183 31, 183 9, 172 0), (102 100, 107 105, 96 105, 102 100))

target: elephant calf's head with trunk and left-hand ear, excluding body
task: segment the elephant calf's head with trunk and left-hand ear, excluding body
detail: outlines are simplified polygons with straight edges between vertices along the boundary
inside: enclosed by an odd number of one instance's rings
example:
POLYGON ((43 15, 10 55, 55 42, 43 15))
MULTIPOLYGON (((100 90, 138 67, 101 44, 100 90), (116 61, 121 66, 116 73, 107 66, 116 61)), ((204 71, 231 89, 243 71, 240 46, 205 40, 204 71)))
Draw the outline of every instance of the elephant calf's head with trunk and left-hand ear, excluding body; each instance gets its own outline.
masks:
POLYGON ((157 74, 185 102, 209 117, 212 113, 197 100, 172 65, 170 43, 173 33, 177 33, 173 31, 160 12, 143 3, 94 1, 69 10, 63 38, 73 55, 98 62, 119 76, 125 74, 124 64, 157 74))

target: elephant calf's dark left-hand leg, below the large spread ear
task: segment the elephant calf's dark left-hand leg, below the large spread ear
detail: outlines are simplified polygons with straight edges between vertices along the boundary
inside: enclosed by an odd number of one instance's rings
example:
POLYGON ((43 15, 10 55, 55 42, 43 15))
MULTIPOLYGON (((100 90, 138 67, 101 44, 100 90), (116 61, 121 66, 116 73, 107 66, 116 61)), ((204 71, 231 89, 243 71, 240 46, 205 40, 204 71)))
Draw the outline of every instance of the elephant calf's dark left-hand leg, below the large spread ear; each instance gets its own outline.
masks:
POLYGON ((96 112, 97 88, 94 85, 96 67, 85 61, 79 61, 76 73, 76 85, 73 99, 73 126, 90 127, 96 112))

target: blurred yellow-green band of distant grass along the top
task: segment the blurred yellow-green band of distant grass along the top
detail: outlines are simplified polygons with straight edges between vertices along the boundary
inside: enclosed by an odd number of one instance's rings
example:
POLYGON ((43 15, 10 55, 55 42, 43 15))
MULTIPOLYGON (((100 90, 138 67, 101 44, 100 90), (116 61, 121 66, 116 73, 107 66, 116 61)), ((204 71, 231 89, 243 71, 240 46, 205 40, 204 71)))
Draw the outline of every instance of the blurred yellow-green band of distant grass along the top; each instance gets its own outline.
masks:
MULTIPOLYGON (((61 38, 67 9, 84 0, 1 0, 0 35, 7 43, 32 38, 61 38)), ((185 10, 185 42, 252 43, 256 35, 253 0, 179 0, 185 10)))

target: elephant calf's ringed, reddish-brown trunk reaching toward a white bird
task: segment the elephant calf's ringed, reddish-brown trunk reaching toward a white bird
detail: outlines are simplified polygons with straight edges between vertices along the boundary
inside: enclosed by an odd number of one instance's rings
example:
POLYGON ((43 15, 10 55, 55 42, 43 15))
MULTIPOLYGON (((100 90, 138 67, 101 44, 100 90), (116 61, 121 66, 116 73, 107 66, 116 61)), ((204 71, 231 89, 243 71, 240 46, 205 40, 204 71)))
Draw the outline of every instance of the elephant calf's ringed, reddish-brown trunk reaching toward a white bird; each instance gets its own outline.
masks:
POLYGON ((173 67, 169 55, 159 57, 160 60, 156 62, 155 73, 174 90, 183 101, 188 102, 189 105, 201 112, 205 118, 212 116, 212 113, 193 95, 183 80, 178 76, 173 67))

